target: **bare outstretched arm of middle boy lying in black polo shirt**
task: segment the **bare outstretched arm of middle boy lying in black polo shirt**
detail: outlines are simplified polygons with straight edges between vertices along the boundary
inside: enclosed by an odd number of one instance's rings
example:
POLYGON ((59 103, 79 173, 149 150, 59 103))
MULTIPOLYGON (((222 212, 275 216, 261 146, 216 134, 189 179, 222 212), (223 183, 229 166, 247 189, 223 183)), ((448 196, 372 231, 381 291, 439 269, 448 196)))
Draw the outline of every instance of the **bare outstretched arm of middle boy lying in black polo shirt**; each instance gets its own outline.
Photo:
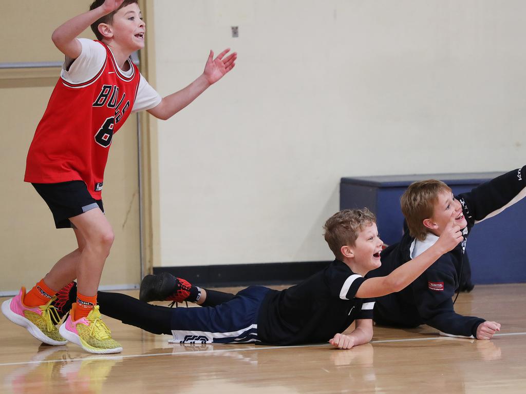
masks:
POLYGON ((387 276, 366 279, 358 288, 356 297, 374 298, 401 291, 426 271, 440 256, 457 246, 463 237, 460 227, 454 223, 455 215, 454 212, 451 213, 449 223, 440 238, 427 251, 402 264, 387 276))

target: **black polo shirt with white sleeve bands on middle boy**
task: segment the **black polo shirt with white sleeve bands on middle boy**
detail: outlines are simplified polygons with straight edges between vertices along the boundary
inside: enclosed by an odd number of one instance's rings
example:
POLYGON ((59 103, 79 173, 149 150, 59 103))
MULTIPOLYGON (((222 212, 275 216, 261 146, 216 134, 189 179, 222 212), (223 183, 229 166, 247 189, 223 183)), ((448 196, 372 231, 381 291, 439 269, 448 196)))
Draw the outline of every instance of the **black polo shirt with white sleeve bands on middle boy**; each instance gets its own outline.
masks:
POLYGON ((363 281, 335 260, 298 285, 271 290, 259 308, 258 337, 272 345, 321 343, 355 319, 372 319, 375 300, 355 298, 363 281))

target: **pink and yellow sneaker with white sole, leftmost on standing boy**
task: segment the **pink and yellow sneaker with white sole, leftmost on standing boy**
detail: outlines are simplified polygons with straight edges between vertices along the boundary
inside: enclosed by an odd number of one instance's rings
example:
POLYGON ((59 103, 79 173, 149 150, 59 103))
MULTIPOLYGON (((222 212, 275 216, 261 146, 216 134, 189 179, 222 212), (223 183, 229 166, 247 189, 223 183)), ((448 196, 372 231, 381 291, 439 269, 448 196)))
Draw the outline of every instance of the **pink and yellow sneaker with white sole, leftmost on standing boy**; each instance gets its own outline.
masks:
POLYGON ((55 324, 59 323, 57 311, 51 303, 53 297, 45 305, 29 307, 24 305, 26 289, 22 287, 18 295, 2 303, 2 313, 13 323, 26 328, 43 343, 53 346, 66 345, 67 340, 58 332, 55 324))

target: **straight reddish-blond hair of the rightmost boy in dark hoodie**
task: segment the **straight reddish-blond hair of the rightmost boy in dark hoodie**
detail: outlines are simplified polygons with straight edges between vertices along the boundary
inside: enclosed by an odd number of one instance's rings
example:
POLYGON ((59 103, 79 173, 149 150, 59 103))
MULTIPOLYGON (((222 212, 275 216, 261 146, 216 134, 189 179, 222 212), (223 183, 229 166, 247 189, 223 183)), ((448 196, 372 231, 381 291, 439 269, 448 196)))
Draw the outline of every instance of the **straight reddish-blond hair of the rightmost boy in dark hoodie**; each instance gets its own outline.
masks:
POLYGON ((411 183, 402 194, 400 206, 412 237, 419 241, 426 239, 428 229, 423 221, 433 216, 434 204, 444 191, 451 192, 451 188, 442 181, 428 179, 411 183))

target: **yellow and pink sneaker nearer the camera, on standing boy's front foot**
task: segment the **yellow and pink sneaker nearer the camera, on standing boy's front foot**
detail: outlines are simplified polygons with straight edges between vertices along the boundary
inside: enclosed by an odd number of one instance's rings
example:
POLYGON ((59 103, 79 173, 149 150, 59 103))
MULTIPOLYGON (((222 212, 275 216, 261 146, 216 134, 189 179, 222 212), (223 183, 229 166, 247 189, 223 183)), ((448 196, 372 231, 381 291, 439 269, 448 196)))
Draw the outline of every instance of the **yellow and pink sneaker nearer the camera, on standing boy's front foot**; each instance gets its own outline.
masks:
POLYGON ((108 354, 123 351, 122 346, 112 338, 112 331, 102 321, 98 305, 95 305, 88 316, 73 320, 76 307, 77 304, 73 304, 69 316, 58 329, 64 338, 90 353, 108 354))

